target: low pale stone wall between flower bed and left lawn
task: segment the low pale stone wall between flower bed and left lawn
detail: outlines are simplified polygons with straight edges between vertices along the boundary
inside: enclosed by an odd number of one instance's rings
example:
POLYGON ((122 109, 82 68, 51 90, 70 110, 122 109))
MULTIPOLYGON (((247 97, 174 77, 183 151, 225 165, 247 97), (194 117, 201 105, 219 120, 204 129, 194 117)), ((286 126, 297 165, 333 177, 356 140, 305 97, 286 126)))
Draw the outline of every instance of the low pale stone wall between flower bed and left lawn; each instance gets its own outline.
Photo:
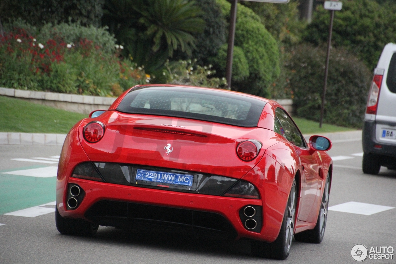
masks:
POLYGON ((61 94, 53 92, 37 92, 0 87, 0 95, 28 99, 41 99, 49 101, 63 101, 70 103, 84 103, 95 105, 111 105, 117 98, 102 96, 83 96, 79 94, 61 94))

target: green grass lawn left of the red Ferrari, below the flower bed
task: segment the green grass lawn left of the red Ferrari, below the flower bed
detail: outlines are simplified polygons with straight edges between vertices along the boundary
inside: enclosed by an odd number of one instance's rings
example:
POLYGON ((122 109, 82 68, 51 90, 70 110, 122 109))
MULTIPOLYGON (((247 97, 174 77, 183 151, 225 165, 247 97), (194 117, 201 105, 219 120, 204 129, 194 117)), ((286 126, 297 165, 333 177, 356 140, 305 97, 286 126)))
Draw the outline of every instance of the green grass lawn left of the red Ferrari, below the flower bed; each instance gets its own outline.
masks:
POLYGON ((67 134, 88 115, 0 96, 0 132, 67 134))

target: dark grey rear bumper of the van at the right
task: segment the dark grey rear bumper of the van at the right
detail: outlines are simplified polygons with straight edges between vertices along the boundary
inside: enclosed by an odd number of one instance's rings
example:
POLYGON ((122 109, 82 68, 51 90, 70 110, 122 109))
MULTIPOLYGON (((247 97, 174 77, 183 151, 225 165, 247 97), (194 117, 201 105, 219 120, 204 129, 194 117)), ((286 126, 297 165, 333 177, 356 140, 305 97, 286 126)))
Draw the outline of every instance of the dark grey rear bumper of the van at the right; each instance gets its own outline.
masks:
POLYGON ((364 153, 373 153, 386 157, 396 157, 396 145, 378 142, 375 138, 375 121, 364 121, 362 132, 362 145, 364 153), (375 147, 381 145, 381 148, 375 147))

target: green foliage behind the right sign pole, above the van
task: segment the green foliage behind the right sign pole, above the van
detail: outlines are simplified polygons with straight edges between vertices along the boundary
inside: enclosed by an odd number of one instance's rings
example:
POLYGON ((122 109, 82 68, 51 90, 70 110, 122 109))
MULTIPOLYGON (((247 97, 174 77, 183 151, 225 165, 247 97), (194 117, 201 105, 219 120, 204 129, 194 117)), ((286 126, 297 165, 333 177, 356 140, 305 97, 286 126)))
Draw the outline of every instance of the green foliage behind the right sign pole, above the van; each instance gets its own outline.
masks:
MULTIPOLYGON (((315 45, 327 41, 329 11, 318 5, 312 23, 307 27, 304 39, 315 45)), ((373 69, 384 46, 396 42, 396 4, 375 0, 345 0, 343 9, 335 12, 333 43, 354 52, 373 69)))

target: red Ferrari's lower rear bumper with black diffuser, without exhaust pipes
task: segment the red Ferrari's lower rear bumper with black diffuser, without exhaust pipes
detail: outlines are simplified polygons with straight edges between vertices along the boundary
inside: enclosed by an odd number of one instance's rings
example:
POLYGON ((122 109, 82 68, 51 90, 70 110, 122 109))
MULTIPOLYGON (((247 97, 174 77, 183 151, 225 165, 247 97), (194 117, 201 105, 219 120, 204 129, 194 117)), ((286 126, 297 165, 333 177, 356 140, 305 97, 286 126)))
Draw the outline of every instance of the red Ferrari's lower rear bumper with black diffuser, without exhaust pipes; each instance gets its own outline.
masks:
POLYGON ((118 228, 136 228, 141 225, 150 228, 165 226, 168 230, 185 229, 188 231, 195 228, 196 231, 204 231, 228 239, 245 237, 271 242, 278 236, 273 227, 266 228, 265 217, 261 217, 263 227, 260 233, 247 230, 242 223, 240 210, 246 205, 262 208, 261 200, 182 193, 77 178, 69 178, 68 182, 69 184, 78 184, 84 190, 85 196, 75 210, 66 210, 65 201, 61 201, 64 200, 63 196, 61 196, 62 198, 58 196, 61 199, 57 199, 57 207, 62 217, 82 218, 104 226, 118 228), (111 209, 101 210, 106 206, 118 209, 113 212, 110 212, 111 209), (151 218, 147 219, 147 217, 139 217, 136 214, 133 217, 128 216, 131 211, 137 210, 136 208, 172 211, 179 220, 172 221, 166 219, 165 216, 164 219, 158 218, 158 216, 150 216, 151 218), (190 214, 192 220, 187 219, 190 214), (180 220, 180 218, 182 219, 180 220), (204 221, 202 218, 207 220, 204 221), (193 224, 190 224, 190 221, 193 224), (215 224, 217 221, 221 224, 215 224), (204 222, 205 224, 202 224, 204 222))

